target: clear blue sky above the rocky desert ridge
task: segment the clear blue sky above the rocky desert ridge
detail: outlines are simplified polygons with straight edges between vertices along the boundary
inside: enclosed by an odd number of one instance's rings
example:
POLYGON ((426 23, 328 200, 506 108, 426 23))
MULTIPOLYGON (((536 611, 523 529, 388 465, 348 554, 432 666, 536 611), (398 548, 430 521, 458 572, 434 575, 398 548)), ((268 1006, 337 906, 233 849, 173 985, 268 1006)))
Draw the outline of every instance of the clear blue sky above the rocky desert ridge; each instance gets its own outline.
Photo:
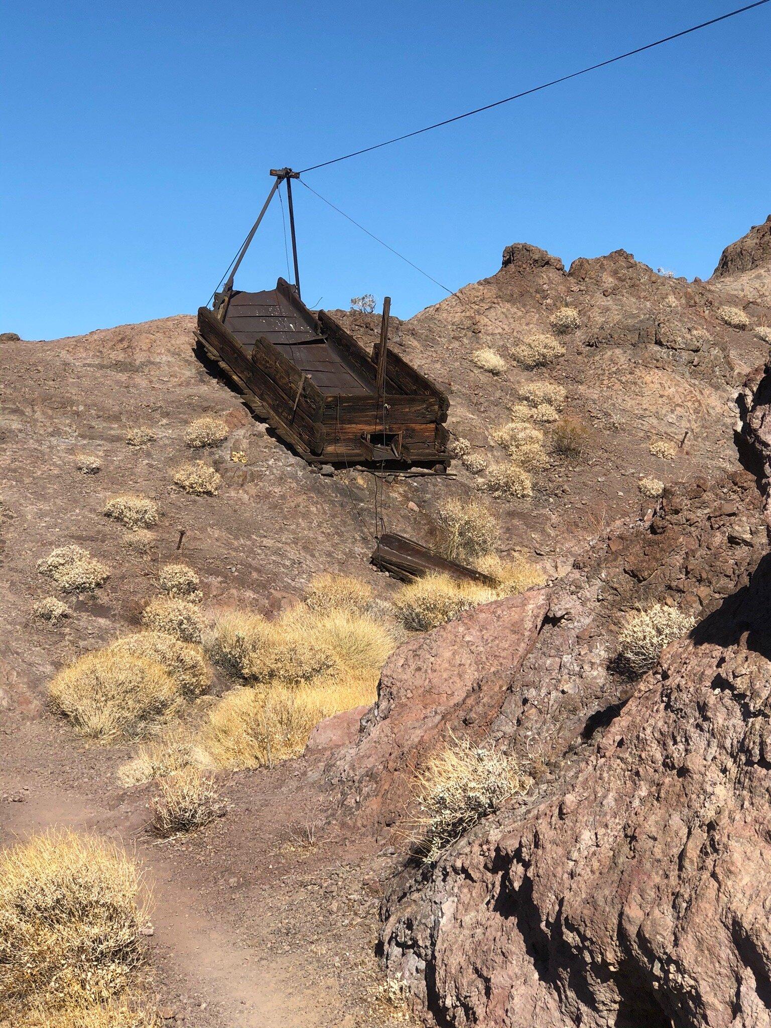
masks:
MULTIPOLYGON (((0 331, 56 338, 205 303, 270 186, 739 6, 6 0, 0 331)), ((451 289, 529 242, 711 273, 771 211, 771 4, 307 176, 451 289)), ((296 187, 303 298, 444 293, 296 187)), ((281 209, 236 285, 286 276, 281 209)))

